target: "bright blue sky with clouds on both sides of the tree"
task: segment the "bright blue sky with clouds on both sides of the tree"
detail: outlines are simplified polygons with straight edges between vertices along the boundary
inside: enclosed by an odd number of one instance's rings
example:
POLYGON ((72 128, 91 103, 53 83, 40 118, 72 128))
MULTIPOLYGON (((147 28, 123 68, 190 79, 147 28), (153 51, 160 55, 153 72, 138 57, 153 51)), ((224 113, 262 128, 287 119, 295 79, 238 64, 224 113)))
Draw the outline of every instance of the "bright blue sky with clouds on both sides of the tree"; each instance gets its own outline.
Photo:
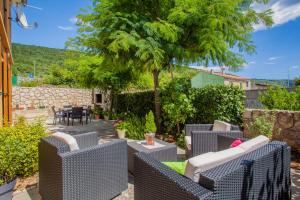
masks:
MULTIPOLYGON (((25 8, 29 23, 39 27, 24 30, 13 23, 13 42, 64 48, 69 37, 76 36, 76 15, 80 8, 91 5, 91 0, 28 0, 29 5, 43 8, 25 8)), ((247 64, 237 74, 250 78, 286 79, 300 76, 300 0, 271 0, 274 27, 257 26, 253 41, 257 53, 246 56, 247 64)))

